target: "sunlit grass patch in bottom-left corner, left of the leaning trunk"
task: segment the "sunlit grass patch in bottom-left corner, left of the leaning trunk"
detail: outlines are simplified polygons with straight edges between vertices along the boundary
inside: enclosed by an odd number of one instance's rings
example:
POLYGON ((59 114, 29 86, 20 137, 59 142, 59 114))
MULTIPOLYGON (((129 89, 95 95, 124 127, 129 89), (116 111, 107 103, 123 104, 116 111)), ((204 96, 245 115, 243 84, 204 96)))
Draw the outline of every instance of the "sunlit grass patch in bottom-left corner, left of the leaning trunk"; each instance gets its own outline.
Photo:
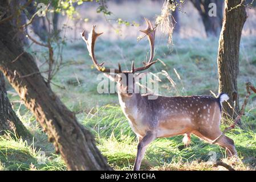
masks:
POLYGON ((26 140, 11 138, 10 135, 0 137, 0 169, 45 171, 66 169, 60 156, 42 152, 34 147, 34 143, 28 144, 26 140))

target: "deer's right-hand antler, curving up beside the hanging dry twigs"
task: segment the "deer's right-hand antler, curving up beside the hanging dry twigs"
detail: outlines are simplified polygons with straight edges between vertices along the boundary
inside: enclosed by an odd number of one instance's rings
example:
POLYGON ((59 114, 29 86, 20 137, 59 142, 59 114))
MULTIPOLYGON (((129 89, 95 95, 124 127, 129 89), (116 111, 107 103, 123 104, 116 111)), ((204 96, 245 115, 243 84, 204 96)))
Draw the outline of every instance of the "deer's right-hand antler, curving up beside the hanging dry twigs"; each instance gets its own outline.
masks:
POLYGON ((154 52, 155 52, 155 35, 156 35, 156 30, 155 30, 155 28, 153 28, 150 20, 145 18, 145 21, 146 21, 148 27, 147 27, 146 30, 140 30, 140 31, 145 33, 145 34, 147 34, 149 43, 151 45, 151 55, 150 55, 150 58, 149 58, 148 62, 144 63, 145 64, 144 67, 135 68, 134 72, 143 71, 145 69, 148 69, 149 67, 151 67, 151 65, 153 65, 153 64, 155 64, 157 62, 157 61, 152 61, 153 57, 154 57, 154 52))

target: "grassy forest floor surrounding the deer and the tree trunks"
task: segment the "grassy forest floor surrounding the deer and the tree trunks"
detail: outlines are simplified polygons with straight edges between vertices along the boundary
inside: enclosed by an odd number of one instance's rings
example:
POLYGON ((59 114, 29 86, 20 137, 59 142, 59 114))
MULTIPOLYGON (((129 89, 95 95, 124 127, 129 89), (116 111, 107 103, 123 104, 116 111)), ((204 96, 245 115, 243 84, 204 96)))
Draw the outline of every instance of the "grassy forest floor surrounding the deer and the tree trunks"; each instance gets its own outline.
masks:
MULTIPOLYGON (((164 75, 159 75, 160 94, 164 96, 211 95, 218 92, 216 38, 174 38, 173 50, 165 44, 156 44, 156 56, 165 63, 156 63, 149 70, 168 72, 176 85, 170 84, 164 75), (176 70, 176 72, 174 71, 176 70)), ((96 44, 97 59, 106 66, 116 67, 120 61, 129 69, 131 61, 141 65, 147 57, 148 42, 141 40, 103 40, 96 44), (106 57, 108 55, 108 57, 106 57)), ((32 51, 31 51, 32 52, 32 51)), ((52 80, 55 93, 76 113, 78 121, 95 135, 97 147, 115 169, 132 169, 137 139, 122 113, 116 94, 97 93, 97 71, 92 68, 85 44, 67 44, 64 48, 64 67, 52 80)), ((243 38, 239 62, 238 90, 240 104, 246 95, 245 82, 256 85, 256 38, 243 38)), ((43 69, 43 68, 42 68, 43 69)), ((14 90, 7 86, 14 110, 34 136, 26 141, 10 135, 0 137, 0 170, 66 170, 66 166, 54 147, 47 141, 39 123, 26 109, 14 90)), ((222 130, 226 124, 222 124, 222 130)), ((217 145, 192 137, 189 147, 184 147, 182 136, 157 139, 147 149, 141 169, 146 170, 222 170, 208 162, 213 152, 217 159, 238 170, 255 170, 256 166, 256 94, 251 94, 242 128, 236 127, 227 133, 234 140, 238 160, 226 159, 225 151, 217 145)))

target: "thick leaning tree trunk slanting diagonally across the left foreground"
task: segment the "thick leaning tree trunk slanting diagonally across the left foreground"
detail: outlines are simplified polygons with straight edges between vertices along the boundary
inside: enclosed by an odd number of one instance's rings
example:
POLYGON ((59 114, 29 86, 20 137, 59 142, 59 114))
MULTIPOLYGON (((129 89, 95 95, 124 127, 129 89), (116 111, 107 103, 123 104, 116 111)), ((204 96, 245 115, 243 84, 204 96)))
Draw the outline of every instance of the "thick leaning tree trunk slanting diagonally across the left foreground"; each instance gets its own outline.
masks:
MULTIPOLYGON (((0 8, 7 9, 8 6, 7 0, 0 1, 0 8)), ((15 29, 10 21, 1 24, 0 71, 35 115, 67 168, 111 170, 97 149, 92 134, 78 123, 75 114, 47 86, 32 56, 24 52, 19 42, 12 41, 13 34, 15 29)))

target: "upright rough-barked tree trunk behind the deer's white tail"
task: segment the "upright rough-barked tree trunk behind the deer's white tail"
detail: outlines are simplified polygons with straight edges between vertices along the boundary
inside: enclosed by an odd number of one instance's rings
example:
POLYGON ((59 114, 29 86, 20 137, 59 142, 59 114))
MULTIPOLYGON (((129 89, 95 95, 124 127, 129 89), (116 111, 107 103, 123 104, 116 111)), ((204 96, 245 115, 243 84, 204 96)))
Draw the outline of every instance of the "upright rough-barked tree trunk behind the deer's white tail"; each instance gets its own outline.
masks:
POLYGON ((235 112, 225 102, 223 106, 226 113, 233 118, 239 112, 237 91, 239 45, 243 24, 246 21, 245 5, 239 5, 240 3, 241 0, 225 0, 224 22, 218 48, 219 92, 225 92, 229 95, 229 104, 234 107, 235 112))

